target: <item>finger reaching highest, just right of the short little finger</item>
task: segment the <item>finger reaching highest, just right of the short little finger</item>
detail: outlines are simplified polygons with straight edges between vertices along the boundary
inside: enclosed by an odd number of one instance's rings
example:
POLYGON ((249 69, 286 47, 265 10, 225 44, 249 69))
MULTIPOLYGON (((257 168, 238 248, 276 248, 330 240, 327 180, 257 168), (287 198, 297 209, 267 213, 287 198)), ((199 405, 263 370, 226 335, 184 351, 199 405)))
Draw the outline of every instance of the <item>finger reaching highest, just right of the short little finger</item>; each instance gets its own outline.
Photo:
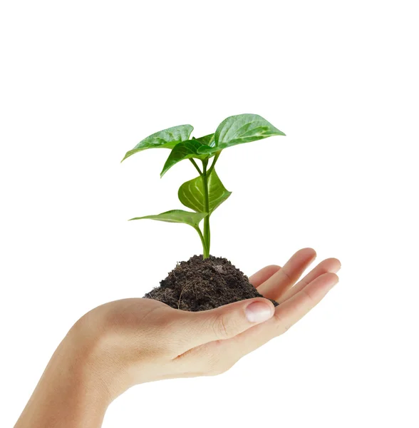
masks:
POLYGON ((311 262, 316 258, 313 248, 297 251, 278 272, 266 280, 258 291, 268 299, 278 300, 299 279, 311 262))

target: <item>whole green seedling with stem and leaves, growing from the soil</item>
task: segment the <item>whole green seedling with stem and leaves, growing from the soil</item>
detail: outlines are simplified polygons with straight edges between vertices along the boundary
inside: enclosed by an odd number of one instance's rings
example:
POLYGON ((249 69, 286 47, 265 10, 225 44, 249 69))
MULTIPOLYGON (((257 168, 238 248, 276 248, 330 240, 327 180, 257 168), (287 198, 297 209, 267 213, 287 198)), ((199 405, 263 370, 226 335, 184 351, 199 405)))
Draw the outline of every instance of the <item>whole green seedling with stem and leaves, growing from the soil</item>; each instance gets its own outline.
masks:
MULTIPOLYGON (((214 210, 226 200, 229 192, 217 173, 215 164, 224 148, 237 144, 262 140, 270 136, 284 136, 271 123, 257 114, 239 114, 230 116, 219 124, 215 133, 208 136, 190 138, 193 131, 191 125, 180 125, 153 133, 128 151, 123 160, 148 148, 170 148, 171 152, 160 176, 162 177, 176 163, 189 159, 199 173, 197 178, 183 183, 178 192, 180 202, 193 212, 185 210, 171 210, 157 215, 135 217, 130 220, 149 218, 152 220, 167 221, 170 223, 185 223, 192 226, 200 235, 204 258, 209 257, 211 233, 209 218, 214 210), (212 159, 209 165, 210 159, 212 159), (202 162, 202 168, 197 164, 202 162), (203 231, 200 222, 204 220, 203 231)), ((122 162, 121 161, 121 162, 122 162)))

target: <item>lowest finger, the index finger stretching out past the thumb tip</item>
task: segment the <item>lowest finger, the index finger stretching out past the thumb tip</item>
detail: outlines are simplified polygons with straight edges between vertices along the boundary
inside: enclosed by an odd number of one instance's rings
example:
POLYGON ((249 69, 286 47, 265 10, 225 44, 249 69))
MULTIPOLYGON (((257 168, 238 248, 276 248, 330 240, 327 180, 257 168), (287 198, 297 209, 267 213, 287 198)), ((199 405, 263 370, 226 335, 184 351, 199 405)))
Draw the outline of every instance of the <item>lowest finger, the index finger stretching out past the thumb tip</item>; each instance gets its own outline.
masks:
MULTIPOLYGON (((336 282, 338 282, 338 276, 331 272, 317 277, 291 299, 276 307, 274 317, 267 322, 256 325, 232 339, 218 342, 218 352, 233 353, 239 359, 274 337, 283 334, 317 305, 333 285, 336 285, 336 282)), ((216 343, 206 346, 208 352, 214 352, 217 348, 216 343)))

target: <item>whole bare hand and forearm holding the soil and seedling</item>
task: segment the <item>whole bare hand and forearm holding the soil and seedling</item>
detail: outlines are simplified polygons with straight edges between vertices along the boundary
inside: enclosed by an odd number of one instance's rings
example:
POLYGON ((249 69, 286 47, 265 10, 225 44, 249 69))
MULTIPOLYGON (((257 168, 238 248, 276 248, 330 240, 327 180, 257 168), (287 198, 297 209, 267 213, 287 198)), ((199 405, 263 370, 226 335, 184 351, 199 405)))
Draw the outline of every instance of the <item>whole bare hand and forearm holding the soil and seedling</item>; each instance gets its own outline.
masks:
POLYGON ((341 263, 297 251, 249 280, 265 297, 186 312, 148 299, 109 302, 83 315, 58 346, 15 428, 98 428, 118 395, 135 384, 215 375, 282 335, 338 282, 341 263), (250 307, 249 305, 252 305, 250 307))

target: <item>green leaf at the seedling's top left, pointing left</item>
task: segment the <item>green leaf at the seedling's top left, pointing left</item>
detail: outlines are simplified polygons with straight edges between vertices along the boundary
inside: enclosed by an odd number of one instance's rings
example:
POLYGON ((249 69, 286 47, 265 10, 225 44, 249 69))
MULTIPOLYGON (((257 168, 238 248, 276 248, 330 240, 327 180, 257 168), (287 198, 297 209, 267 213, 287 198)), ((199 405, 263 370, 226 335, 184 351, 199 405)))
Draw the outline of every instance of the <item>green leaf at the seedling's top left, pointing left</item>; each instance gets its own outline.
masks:
POLYGON ((180 125, 153 133, 151 136, 140 141, 133 150, 125 153, 122 161, 133 156, 134 153, 147 150, 148 148, 174 148, 178 143, 188 140, 192 131, 192 125, 180 125))

